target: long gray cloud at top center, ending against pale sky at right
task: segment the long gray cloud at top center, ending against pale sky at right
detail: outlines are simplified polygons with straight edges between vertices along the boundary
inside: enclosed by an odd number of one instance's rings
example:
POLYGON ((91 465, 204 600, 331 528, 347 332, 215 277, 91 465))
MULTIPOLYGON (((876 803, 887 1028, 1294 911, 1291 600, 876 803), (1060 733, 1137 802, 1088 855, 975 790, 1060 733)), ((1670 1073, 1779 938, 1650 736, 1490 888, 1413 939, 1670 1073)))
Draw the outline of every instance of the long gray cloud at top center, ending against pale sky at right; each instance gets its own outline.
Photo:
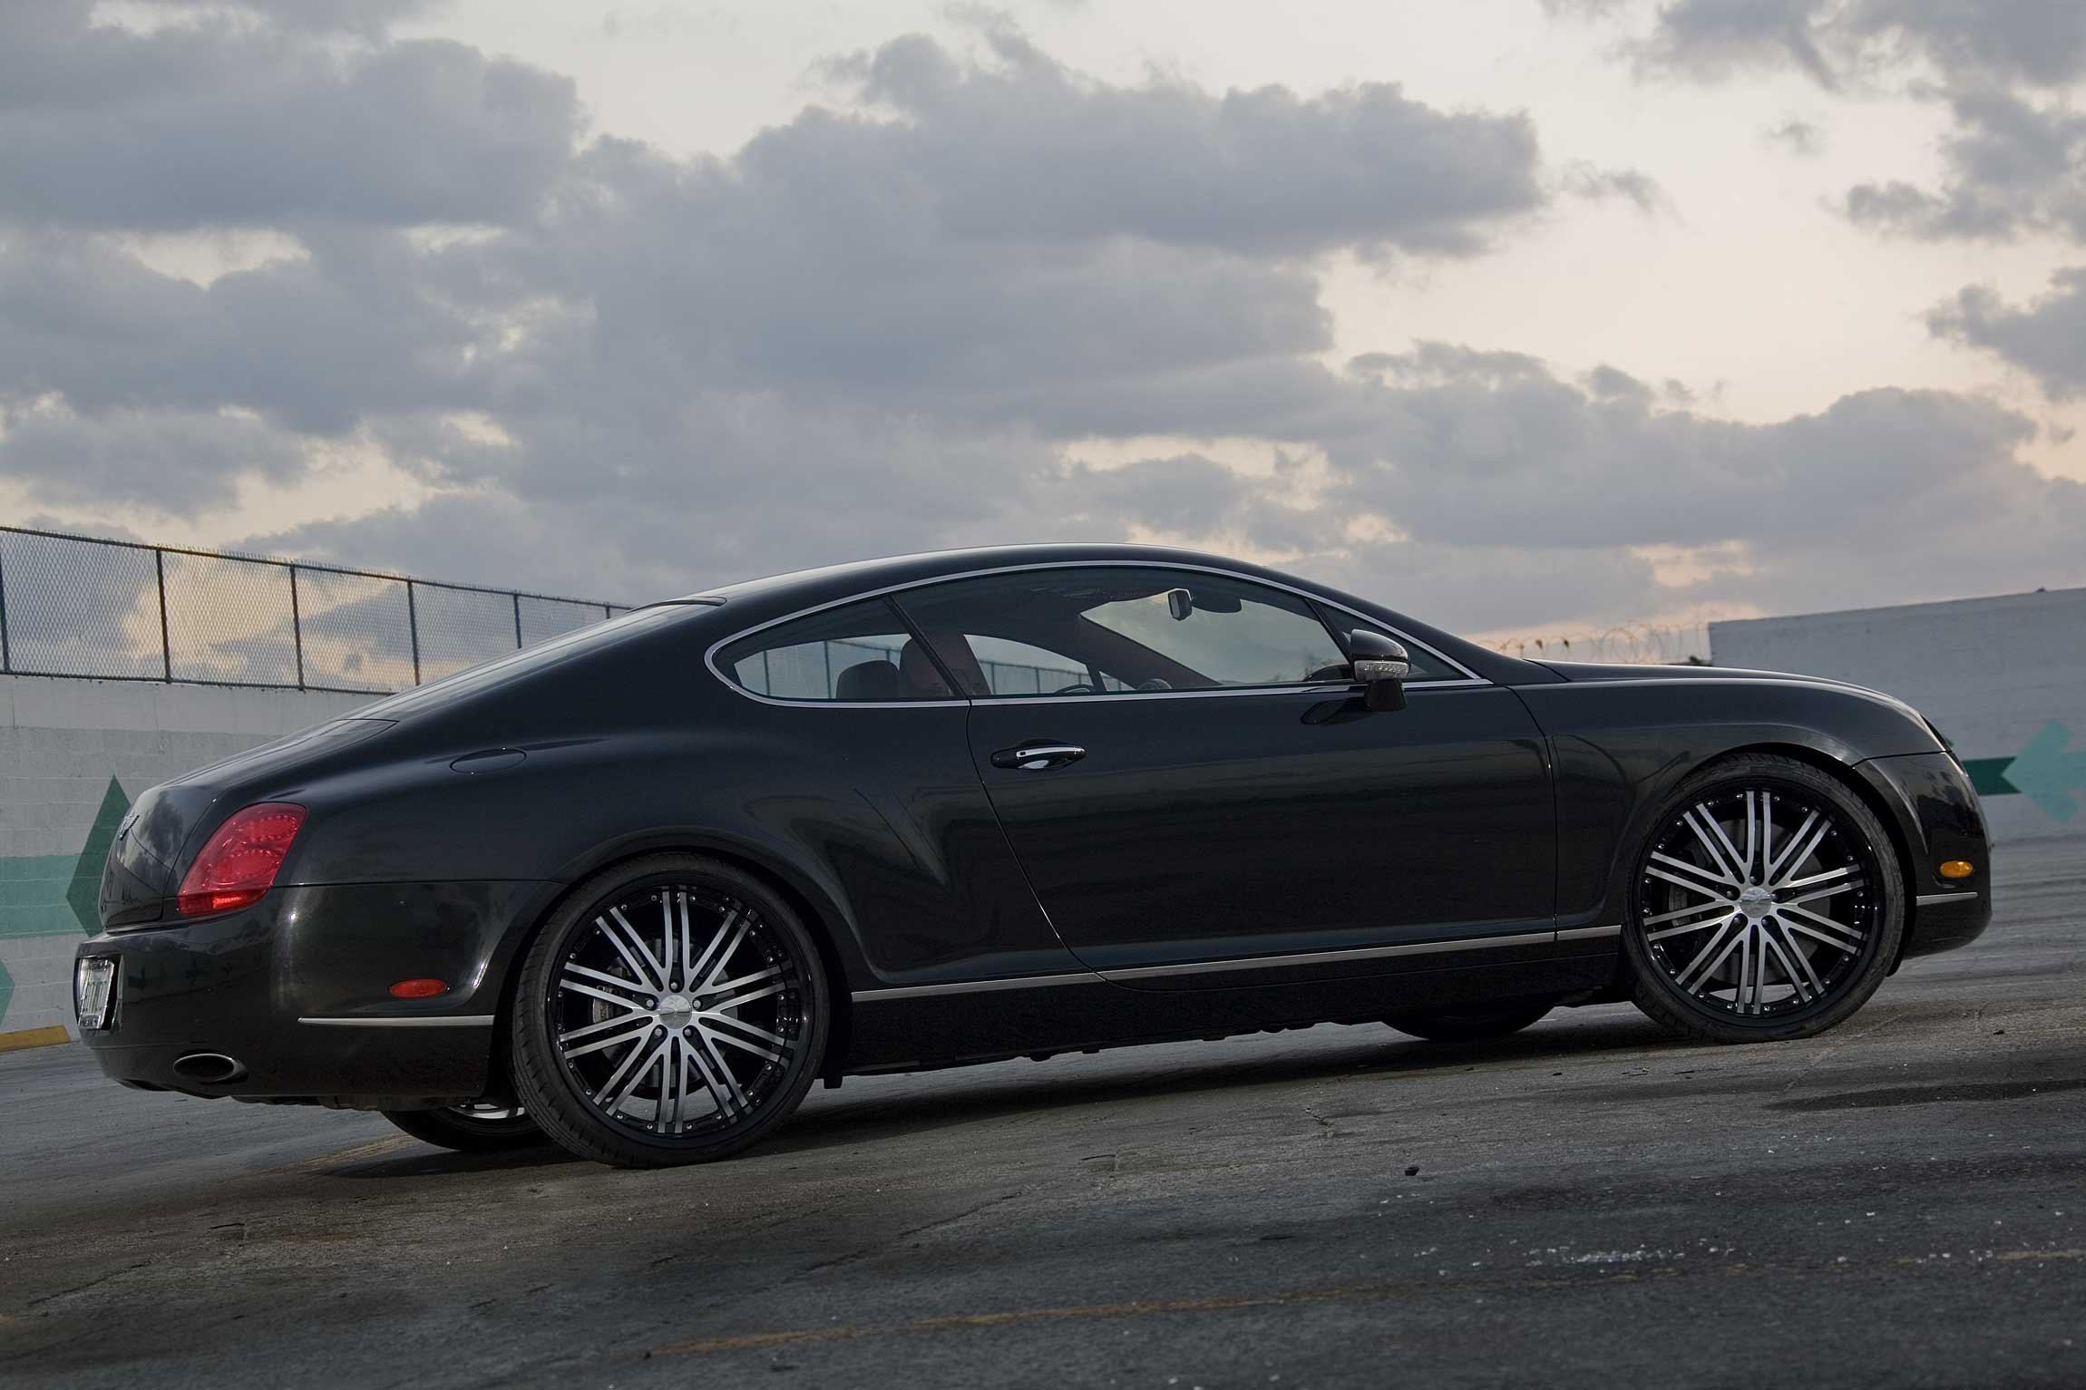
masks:
MULTIPOLYGON (((1439 113, 1396 83, 1316 98, 1164 79, 1118 88, 1005 27, 985 38, 995 67, 918 35, 832 65, 907 117, 859 125, 847 142, 878 177, 930 198, 955 238, 1471 252, 1489 223, 1542 202, 1525 117, 1439 113)), ((803 140, 836 133, 799 121, 776 144, 803 140)), ((759 171, 768 154, 757 140, 741 165, 759 171)))

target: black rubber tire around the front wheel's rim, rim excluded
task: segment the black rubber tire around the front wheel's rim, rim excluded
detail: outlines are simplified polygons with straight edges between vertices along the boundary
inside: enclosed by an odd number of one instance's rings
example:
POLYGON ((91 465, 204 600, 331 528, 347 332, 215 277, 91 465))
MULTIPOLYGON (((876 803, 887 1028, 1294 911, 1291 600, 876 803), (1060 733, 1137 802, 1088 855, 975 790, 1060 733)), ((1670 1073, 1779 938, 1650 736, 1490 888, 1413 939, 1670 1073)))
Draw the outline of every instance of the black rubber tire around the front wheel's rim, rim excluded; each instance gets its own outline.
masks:
POLYGON ((1771 1042, 1777 1038, 1809 1038, 1836 1023, 1846 1021, 1869 1002, 1869 996, 1884 984, 1892 963, 1898 959, 1898 942, 1905 936, 1905 871, 1898 865, 1896 846, 1884 829, 1875 811, 1838 777, 1823 773, 1809 763, 1779 754, 1742 754, 1706 769, 1667 796, 1625 865, 1623 886, 1623 959, 1631 973, 1631 996, 1656 1021, 1681 1027, 1719 1042, 1771 1042), (1865 944, 1865 957, 1854 975, 1844 982, 1840 998, 1825 1009, 1800 1015, 1748 1021, 1721 1009, 1702 1004, 1685 994, 1667 971, 1652 959, 1644 940, 1644 867, 1660 831, 1688 804, 1715 796, 1733 786, 1788 788, 1802 796, 1825 800, 1852 829, 1867 842, 1867 852, 1875 863, 1877 877, 1877 921, 1865 944))

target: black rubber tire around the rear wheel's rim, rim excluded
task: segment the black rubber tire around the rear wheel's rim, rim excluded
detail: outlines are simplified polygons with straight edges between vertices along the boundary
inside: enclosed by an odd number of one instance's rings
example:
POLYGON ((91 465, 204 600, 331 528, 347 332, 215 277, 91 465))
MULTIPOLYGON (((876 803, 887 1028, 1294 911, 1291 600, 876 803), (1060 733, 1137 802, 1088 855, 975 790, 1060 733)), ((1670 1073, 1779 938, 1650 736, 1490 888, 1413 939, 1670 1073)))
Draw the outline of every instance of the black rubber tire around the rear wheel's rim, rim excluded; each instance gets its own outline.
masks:
POLYGON ((791 1117, 818 1077, 830 1019, 832 1002, 818 944, 780 894, 759 877, 715 859, 647 854, 582 882, 530 942, 515 979, 511 1009, 515 1088, 522 1092, 522 1104, 542 1130, 582 1157, 620 1167, 707 1163, 757 1144, 791 1117), (597 1115, 565 1069, 551 1036, 551 1017, 544 1004, 551 977, 578 932, 592 929, 592 919, 615 898, 670 884, 713 888, 753 907, 761 921, 786 940, 803 973, 803 1007, 809 1027, 793 1063, 795 1071, 751 1121, 707 1140, 653 1138, 597 1115))

